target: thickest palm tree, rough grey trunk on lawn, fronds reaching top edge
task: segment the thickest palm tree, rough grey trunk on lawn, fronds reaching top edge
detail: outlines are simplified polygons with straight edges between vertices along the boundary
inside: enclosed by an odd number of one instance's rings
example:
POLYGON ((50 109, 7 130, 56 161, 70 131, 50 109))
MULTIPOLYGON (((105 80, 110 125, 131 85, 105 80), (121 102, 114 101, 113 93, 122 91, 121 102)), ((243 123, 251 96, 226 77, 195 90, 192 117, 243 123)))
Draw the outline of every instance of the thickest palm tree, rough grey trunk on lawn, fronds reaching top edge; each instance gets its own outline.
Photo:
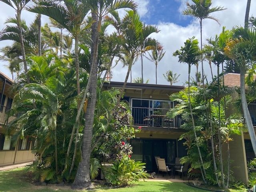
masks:
MULTIPOLYGON (((82 98, 80 107, 78 109, 78 115, 76 116, 76 122, 79 119, 80 113, 83 108, 84 101, 87 96, 88 90, 90 90, 90 100, 87 105, 87 112, 85 114, 85 128, 83 134, 82 144, 82 161, 78 166, 78 171, 72 188, 82 189, 90 187, 90 154, 92 144, 92 128, 94 122, 94 111, 96 104, 96 88, 97 88, 97 64, 98 64, 98 44, 99 33, 102 25, 102 19, 107 14, 114 13, 115 10, 120 8, 130 8, 136 10, 137 4, 132 0, 82 0, 84 5, 89 6, 92 12, 92 46, 91 46, 91 58, 90 58, 90 76, 84 96, 82 98)), ((75 123, 76 124, 76 123, 75 123)))

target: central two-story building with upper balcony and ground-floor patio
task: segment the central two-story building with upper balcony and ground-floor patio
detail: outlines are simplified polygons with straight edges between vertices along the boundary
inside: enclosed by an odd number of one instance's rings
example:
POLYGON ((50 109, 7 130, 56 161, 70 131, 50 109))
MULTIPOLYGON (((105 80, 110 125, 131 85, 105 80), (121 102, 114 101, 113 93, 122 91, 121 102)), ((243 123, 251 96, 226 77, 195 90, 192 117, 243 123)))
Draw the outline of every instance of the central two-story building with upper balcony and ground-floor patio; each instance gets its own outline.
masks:
MULTIPOLYGON (((106 89, 122 88, 123 82, 104 83, 106 89)), ((130 140, 132 158, 146 163, 146 170, 156 171, 155 156, 174 162, 176 157, 186 155, 183 141, 179 141, 184 130, 182 119, 169 119, 166 113, 175 106, 169 96, 184 89, 183 86, 127 83, 123 100, 130 106, 134 128, 141 132, 130 140)))

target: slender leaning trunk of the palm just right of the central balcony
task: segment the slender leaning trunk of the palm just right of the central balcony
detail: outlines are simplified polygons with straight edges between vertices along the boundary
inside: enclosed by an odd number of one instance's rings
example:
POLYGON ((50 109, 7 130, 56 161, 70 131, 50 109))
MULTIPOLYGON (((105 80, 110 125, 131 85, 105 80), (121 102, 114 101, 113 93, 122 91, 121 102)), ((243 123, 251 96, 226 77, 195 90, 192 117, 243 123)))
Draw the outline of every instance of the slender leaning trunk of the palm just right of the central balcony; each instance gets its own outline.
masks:
POLYGON ((202 170, 203 170, 202 178, 204 180, 204 183, 206 183, 206 180, 205 180, 206 172, 205 172, 205 169, 204 169, 204 162, 203 162, 203 159, 202 159, 202 155, 201 155, 201 151, 200 151, 199 143, 198 143, 198 138, 197 138, 197 135, 196 135, 196 128, 195 128, 195 124, 194 124, 194 117, 193 117, 192 106, 191 106, 191 102, 190 102, 190 64, 188 65, 188 105, 189 105, 190 116, 191 116, 191 120, 192 120, 194 136, 195 136, 195 140, 196 140, 196 147, 197 147, 197 150, 198 150, 198 154, 199 154, 199 158, 200 158, 200 163, 201 163, 201 167, 202 167, 202 170))

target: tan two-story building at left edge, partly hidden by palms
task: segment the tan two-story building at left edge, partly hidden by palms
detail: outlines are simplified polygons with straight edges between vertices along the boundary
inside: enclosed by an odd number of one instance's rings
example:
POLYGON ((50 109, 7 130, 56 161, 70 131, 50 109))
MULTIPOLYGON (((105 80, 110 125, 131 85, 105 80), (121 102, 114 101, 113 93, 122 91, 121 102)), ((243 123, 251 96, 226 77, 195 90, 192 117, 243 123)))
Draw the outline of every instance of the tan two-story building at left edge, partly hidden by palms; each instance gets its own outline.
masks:
POLYGON ((32 153, 34 139, 24 138, 14 143, 12 135, 6 134, 6 124, 17 118, 7 115, 12 106, 13 95, 10 93, 12 83, 12 79, 0 72, 0 166, 30 162, 35 158, 32 153))

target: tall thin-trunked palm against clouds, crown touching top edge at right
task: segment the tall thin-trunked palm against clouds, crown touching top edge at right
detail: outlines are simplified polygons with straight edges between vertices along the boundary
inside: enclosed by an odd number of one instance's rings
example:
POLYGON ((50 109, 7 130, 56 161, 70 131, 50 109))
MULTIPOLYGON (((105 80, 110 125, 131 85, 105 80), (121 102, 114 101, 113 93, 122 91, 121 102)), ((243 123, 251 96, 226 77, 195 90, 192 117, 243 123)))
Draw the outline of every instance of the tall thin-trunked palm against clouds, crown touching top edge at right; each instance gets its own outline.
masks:
MULTIPOLYGON (((194 4, 189 4, 189 2, 186 2, 187 9, 183 11, 184 15, 189 15, 193 16, 195 18, 199 19, 200 22, 200 37, 201 37, 201 50, 203 49, 203 44, 202 44, 202 21, 204 19, 212 19, 215 20, 216 22, 219 23, 218 19, 210 16, 211 13, 216 12, 216 11, 222 11, 225 10, 226 8, 217 6, 217 7, 212 7, 212 0, 192 0, 194 4)), ((203 59, 201 60, 202 64, 202 80, 203 80, 203 86, 204 86, 204 67, 203 67, 203 59)))

